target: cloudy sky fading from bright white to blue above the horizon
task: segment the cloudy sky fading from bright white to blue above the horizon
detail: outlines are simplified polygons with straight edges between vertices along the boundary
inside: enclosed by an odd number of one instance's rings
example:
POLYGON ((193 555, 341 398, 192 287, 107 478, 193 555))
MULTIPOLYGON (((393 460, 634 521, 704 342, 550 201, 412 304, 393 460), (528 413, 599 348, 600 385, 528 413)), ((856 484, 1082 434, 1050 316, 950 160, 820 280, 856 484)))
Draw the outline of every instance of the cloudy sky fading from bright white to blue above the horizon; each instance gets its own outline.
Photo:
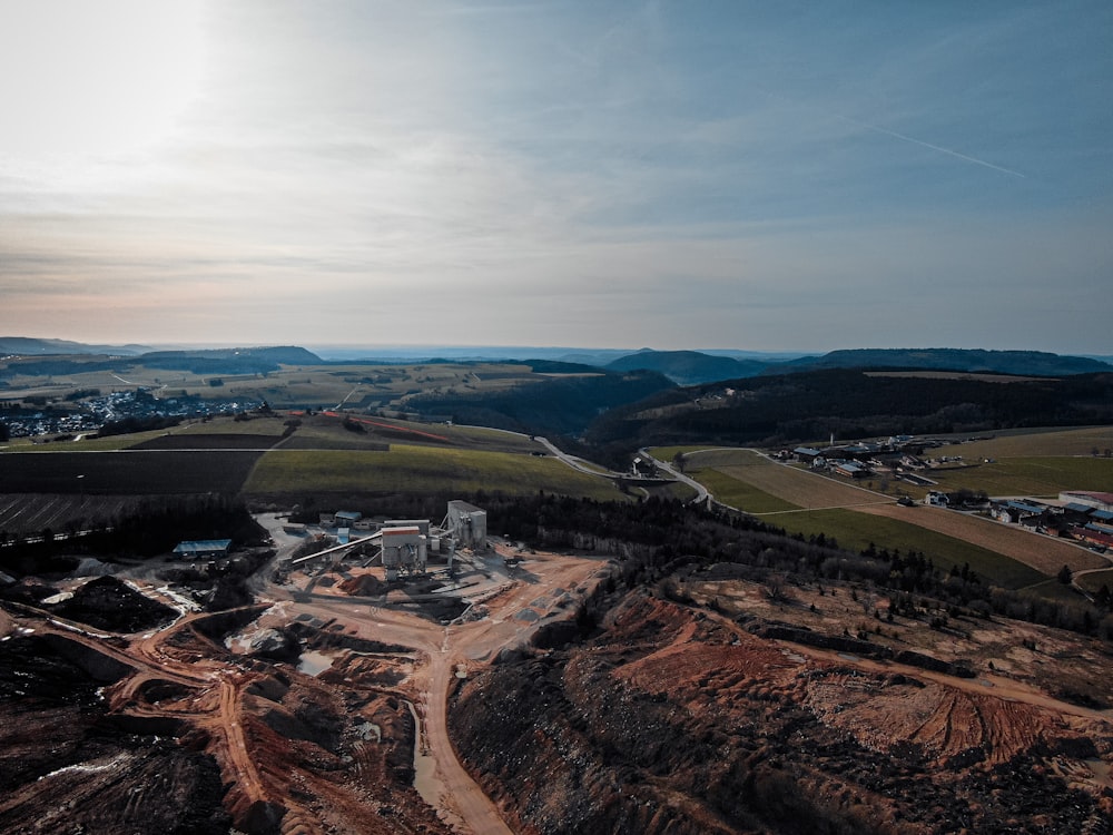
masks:
POLYGON ((0 335, 1113 354, 1113 3, 0 0, 0 335))

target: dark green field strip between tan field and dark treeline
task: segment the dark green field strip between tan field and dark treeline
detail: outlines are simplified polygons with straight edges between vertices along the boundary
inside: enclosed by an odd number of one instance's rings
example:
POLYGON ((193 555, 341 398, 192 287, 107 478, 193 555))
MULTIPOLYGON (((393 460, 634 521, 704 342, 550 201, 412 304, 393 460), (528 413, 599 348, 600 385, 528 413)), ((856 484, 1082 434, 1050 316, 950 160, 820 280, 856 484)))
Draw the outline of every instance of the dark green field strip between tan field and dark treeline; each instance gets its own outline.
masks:
POLYGON ((903 552, 922 551, 935 566, 949 571, 952 566, 969 563, 971 570, 1006 589, 1021 589, 1047 578, 1034 568, 985 548, 936 533, 896 519, 856 513, 853 510, 816 510, 764 517, 764 522, 805 537, 834 537, 839 547, 861 551, 873 542, 877 548, 899 548, 903 552))

